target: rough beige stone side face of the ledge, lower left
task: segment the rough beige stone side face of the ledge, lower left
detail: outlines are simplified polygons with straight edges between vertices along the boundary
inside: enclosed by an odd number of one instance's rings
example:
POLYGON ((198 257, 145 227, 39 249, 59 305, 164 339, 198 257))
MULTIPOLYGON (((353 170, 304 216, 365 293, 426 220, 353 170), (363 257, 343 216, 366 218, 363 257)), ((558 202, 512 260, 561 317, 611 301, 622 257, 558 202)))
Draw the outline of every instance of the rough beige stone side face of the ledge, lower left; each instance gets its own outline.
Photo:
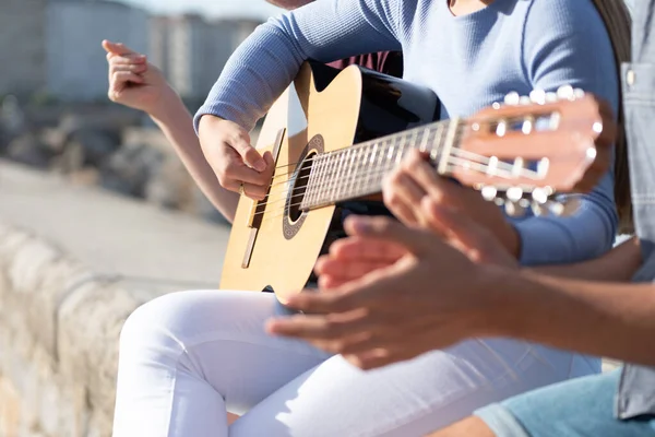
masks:
POLYGON ((120 328, 174 288, 96 274, 0 224, 0 436, 110 436, 120 328))

